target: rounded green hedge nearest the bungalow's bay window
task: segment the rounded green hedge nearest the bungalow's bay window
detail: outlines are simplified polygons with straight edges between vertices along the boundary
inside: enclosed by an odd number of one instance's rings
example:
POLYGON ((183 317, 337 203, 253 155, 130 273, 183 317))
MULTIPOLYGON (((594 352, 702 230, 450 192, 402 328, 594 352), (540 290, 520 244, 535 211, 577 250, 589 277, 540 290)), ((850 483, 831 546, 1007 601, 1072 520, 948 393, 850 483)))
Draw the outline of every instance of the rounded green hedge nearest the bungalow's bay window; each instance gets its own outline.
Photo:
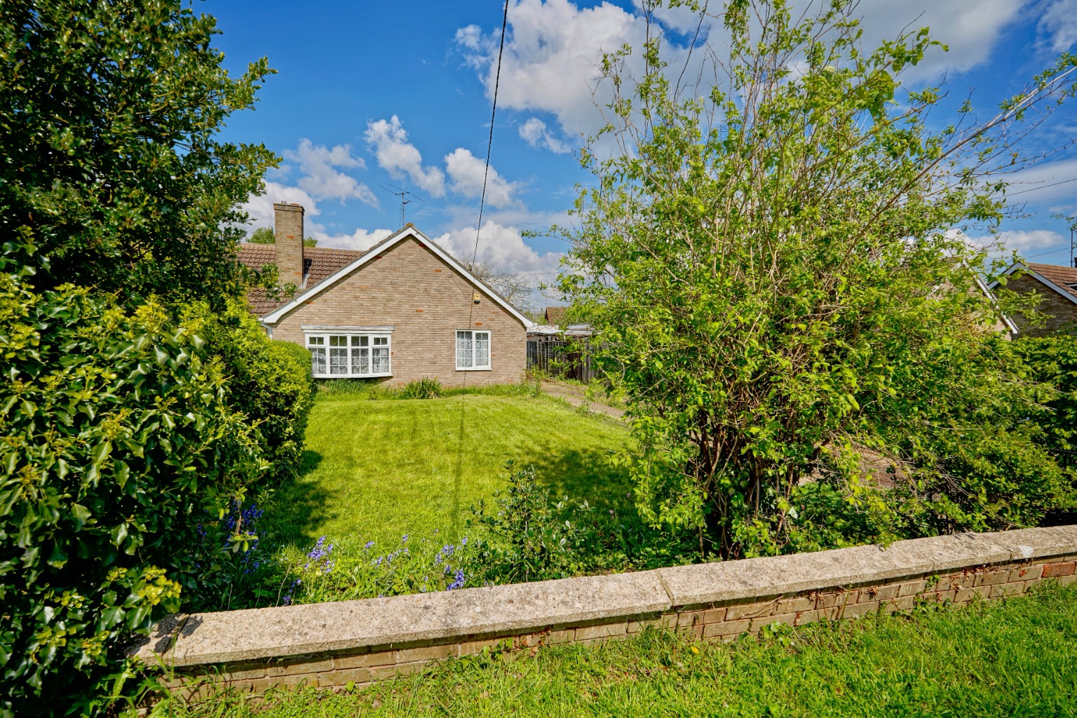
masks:
POLYGON ((219 312, 207 302, 192 304, 181 321, 220 357, 228 403, 256 427, 272 476, 294 476, 313 400, 310 352, 269 339, 241 298, 227 300, 219 312))

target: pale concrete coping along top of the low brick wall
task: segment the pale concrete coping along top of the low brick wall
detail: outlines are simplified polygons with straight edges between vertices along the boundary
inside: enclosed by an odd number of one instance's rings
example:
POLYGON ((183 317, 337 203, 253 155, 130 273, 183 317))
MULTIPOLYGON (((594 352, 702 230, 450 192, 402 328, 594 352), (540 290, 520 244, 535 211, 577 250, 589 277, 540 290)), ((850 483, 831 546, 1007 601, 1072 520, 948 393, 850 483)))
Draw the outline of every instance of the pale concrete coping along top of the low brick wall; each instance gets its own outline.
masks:
POLYGON ((176 667, 541 632, 668 611, 1077 553, 1077 525, 364 601, 174 616, 132 654, 176 667))

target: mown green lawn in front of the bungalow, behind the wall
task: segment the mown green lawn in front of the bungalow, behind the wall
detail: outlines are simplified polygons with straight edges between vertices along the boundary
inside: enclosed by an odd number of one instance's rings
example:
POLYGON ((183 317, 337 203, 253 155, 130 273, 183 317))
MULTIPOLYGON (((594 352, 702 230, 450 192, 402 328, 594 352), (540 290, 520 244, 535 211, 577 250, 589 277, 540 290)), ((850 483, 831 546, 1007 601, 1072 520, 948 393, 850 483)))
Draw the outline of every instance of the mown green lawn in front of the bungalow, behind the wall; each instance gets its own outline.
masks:
POLYGON ((557 495, 602 504, 629 491, 609 456, 625 426, 523 395, 370 399, 320 395, 305 469, 278 491, 267 522, 283 544, 326 535, 346 550, 404 534, 454 535, 470 508, 504 484, 504 464, 534 465, 557 495))

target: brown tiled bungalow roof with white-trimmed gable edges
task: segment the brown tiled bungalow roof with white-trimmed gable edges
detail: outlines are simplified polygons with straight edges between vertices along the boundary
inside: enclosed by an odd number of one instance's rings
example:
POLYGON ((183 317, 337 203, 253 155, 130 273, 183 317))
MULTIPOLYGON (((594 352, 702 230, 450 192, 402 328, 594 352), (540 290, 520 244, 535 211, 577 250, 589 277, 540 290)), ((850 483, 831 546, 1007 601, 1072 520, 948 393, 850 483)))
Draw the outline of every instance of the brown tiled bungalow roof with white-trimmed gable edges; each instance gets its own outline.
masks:
MULTIPOLYGON (((475 286, 481 287, 484 292, 490 295, 490 298, 492 298, 494 302, 496 302, 502 309, 507 311, 514 318, 519 320, 524 327, 530 327, 534 324, 534 322, 528 319, 527 315, 523 314, 523 312, 521 312, 519 309, 509 304, 507 299, 498 294, 498 292, 493 290, 489 284, 487 284, 482 280, 472 274, 470 271, 467 271, 467 269, 465 269, 463 265, 457 262, 451 254, 449 254, 440 247, 432 242, 429 237, 426 237, 424 234, 416 229, 416 227, 410 223, 405 225, 403 229, 397 229, 395 233, 393 233, 392 235, 384 238, 383 240, 381 240, 380 242, 378 242, 377 244, 375 244, 374 247, 364 252, 356 252, 354 250, 334 250, 323 247, 305 248, 303 251, 305 274, 308 273, 307 263, 306 263, 306 257, 308 253, 310 255, 311 264, 309 268, 309 274, 306 281, 306 286, 304 287, 303 292, 300 292, 292 299, 286 299, 277 302, 262 302, 261 305, 256 305, 254 298, 249 297, 251 298, 252 306, 266 307, 265 311, 258 311, 257 309, 255 309, 255 313, 257 313, 258 316, 262 319, 263 324, 267 325, 276 324, 281 319, 283 319, 284 315, 288 314, 288 312, 303 305, 305 301, 314 298, 323 291, 332 286, 337 280, 344 279, 348 274, 365 266, 367 263, 376 258, 379 252, 389 250, 409 237, 414 238, 420 244, 422 244, 431 252, 433 252, 438 258, 442 259, 442 262, 449 265, 449 267, 456 270, 457 273, 461 274, 467 282, 474 284, 475 286)), ((242 255, 243 251, 242 248, 249 248, 249 247, 255 247, 255 248, 268 247, 270 249, 274 248, 272 244, 240 244, 240 250, 241 250, 240 262, 243 262, 243 264, 249 264, 249 263, 247 262, 247 259, 244 259, 242 255)), ((261 262, 263 256, 264 255, 255 255, 253 253, 250 254, 250 258, 252 262, 261 262)), ((263 264, 266 263, 263 262, 263 264)), ((262 265, 257 266, 258 268, 261 268, 262 265)))

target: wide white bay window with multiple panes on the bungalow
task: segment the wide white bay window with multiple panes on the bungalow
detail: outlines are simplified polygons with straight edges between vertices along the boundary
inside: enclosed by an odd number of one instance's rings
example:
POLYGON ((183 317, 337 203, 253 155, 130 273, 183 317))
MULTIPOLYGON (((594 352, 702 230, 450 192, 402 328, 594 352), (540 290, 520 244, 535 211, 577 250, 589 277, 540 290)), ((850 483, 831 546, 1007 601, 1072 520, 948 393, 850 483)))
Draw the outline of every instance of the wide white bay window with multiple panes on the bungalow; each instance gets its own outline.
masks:
POLYGON ((364 327, 303 327, 310 350, 310 372, 323 379, 392 376, 390 334, 355 329, 364 327))

